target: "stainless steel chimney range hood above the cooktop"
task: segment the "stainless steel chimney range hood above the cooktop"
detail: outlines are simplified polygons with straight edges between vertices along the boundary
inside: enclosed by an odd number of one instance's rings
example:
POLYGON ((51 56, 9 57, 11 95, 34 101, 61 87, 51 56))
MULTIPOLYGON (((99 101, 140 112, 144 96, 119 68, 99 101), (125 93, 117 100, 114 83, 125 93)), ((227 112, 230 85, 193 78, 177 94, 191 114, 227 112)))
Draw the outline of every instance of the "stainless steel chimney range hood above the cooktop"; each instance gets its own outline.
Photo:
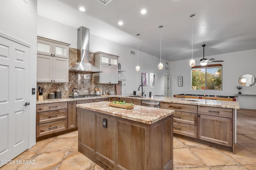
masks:
POLYGON ((77 32, 77 48, 78 57, 77 63, 72 66, 69 71, 81 74, 99 73, 102 72, 97 67, 89 63, 89 38, 90 29, 86 27, 79 27, 77 32))

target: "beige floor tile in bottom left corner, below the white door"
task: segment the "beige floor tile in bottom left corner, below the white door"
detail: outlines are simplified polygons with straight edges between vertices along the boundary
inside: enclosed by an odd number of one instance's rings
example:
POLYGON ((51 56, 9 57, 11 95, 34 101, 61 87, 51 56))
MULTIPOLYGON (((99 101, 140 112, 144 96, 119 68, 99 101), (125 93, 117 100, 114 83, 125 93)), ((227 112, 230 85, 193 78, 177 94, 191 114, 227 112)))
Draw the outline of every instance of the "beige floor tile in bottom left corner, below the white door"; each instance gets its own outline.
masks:
POLYGON ((0 168, 1 170, 16 170, 18 167, 20 167, 22 164, 19 163, 19 161, 23 162, 23 160, 29 160, 32 156, 34 156, 36 152, 23 152, 16 158, 12 159, 14 163, 12 164, 6 164, 0 168))

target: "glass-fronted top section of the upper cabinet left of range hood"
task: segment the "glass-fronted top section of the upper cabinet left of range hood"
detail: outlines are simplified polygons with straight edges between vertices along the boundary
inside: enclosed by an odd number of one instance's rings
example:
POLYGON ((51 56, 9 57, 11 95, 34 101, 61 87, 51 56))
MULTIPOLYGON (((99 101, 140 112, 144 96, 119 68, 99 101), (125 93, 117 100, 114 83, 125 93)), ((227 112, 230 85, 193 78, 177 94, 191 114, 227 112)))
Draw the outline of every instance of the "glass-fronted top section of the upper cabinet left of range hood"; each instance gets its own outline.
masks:
POLYGON ((37 37, 37 53, 68 59, 68 47, 70 44, 62 43, 44 37, 37 37))

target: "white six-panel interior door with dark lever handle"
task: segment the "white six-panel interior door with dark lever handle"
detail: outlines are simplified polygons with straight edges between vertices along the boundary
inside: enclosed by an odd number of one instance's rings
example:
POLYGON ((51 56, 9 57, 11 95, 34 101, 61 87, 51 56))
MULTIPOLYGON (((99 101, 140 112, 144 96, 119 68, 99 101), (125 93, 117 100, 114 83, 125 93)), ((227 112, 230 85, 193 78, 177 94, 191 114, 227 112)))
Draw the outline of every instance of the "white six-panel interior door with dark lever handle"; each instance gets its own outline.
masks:
POLYGON ((28 149, 29 53, 29 47, 0 37, 0 160, 28 149))

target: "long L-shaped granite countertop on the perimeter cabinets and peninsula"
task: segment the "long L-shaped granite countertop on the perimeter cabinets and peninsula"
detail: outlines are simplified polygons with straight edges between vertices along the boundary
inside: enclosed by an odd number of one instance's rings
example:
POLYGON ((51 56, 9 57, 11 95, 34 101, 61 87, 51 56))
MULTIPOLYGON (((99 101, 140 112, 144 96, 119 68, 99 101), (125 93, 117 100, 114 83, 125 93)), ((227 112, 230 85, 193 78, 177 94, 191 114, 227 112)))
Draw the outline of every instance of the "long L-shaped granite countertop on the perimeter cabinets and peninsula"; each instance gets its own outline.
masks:
POLYGON ((90 100, 90 99, 99 99, 99 98, 130 98, 138 100, 150 100, 156 102, 168 102, 168 103, 177 103, 177 104, 190 104, 198 106, 212 106, 212 107, 223 107, 231 109, 239 109, 239 102, 234 101, 224 101, 224 100, 209 100, 209 99, 190 99, 190 98, 174 98, 174 97, 163 97, 163 96, 152 96, 152 97, 129 97, 131 94, 114 94, 110 96, 97 96, 91 98, 60 98, 60 99, 45 99, 42 101, 36 100, 36 104, 46 104, 46 103, 56 103, 56 102, 70 102, 78 100, 90 100))

